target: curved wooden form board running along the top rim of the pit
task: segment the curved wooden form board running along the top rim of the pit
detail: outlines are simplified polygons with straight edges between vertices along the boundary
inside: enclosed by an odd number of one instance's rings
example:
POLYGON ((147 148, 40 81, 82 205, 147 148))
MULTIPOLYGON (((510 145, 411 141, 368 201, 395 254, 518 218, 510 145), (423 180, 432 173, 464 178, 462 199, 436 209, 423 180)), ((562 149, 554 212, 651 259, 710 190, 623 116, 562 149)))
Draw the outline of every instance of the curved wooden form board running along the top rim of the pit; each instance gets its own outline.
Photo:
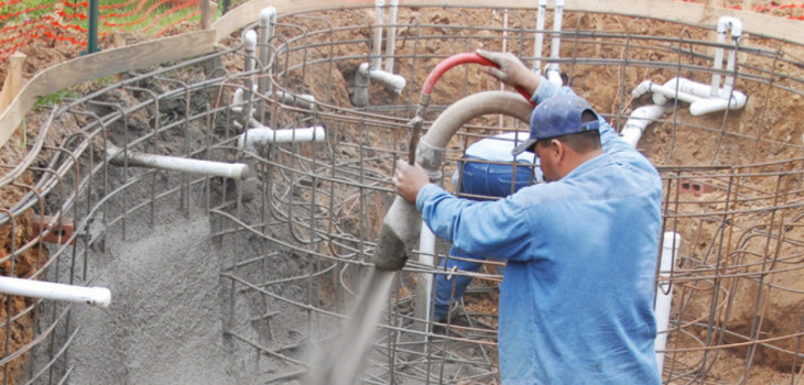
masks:
MULTIPOLYGON (((536 9, 534 0, 400 0, 403 7, 476 7, 536 9)), ((259 20, 260 11, 274 7, 278 14, 324 9, 372 7, 372 0, 251 0, 231 10, 213 23, 210 30, 188 32, 132 46, 101 51, 82 56, 43 70, 22 88, 11 105, 0 114, 0 147, 22 123, 36 99, 74 85, 104 76, 139 69, 169 61, 178 61, 215 50, 215 44, 259 20)), ((567 0, 564 10, 643 16, 687 25, 714 28, 724 15, 739 18, 745 32, 804 45, 804 24, 752 12, 705 7, 667 0, 567 0)))

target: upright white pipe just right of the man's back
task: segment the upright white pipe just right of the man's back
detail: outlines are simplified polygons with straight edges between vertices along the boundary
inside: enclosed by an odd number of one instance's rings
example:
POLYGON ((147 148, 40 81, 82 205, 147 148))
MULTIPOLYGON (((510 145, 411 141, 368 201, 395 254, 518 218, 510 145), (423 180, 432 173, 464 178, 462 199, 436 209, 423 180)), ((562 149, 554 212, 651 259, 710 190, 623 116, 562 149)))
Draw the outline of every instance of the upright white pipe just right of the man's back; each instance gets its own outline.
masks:
POLYGON ((659 263, 656 301, 654 305, 658 331, 654 344, 656 348, 656 364, 659 366, 660 377, 662 376, 662 366, 664 366, 664 350, 667 345, 667 327, 670 326, 670 307, 673 299, 673 285, 670 283, 670 272, 673 270, 675 255, 678 254, 680 246, 681 234, 671 231, 664 233, 659 263))

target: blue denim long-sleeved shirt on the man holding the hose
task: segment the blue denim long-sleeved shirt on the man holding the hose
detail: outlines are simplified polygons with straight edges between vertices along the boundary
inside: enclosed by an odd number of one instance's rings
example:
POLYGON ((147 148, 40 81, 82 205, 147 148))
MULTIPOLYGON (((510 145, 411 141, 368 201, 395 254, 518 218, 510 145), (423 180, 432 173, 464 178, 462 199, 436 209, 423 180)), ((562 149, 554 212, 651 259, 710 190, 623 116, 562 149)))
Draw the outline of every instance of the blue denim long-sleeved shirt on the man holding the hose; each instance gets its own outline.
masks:
MULTIPOLYGON (((534 100, 572 92, 544 79, 534 100)), ((496 201, 425 186, 433 232, 508 260, 500 285, 503 384, 660 384, 653 282, 662 182, 600 118, 605 151, 561 180, 496 201)))

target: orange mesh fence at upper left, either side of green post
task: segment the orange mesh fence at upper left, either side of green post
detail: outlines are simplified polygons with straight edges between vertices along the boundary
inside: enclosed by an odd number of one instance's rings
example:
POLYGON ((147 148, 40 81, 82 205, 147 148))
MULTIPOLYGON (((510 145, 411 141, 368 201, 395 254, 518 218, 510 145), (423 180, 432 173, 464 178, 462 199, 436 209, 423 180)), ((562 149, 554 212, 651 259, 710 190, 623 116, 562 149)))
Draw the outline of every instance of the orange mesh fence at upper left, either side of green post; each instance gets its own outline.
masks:
MULTIPOLYGON (((88 1, 0 0, 0 61, 33 41, 86 48, 88 9, 88 1)), ((188 21, 200 21, 198 0, 100 0, 98 37, 118 31, 159 36, 188 21)))

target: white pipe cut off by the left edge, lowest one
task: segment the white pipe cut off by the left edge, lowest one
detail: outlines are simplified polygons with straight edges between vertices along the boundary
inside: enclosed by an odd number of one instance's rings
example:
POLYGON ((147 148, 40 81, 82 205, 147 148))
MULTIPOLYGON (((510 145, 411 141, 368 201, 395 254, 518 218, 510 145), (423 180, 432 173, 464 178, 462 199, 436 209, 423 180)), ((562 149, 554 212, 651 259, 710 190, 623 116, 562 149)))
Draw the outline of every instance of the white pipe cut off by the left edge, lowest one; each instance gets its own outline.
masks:
POLYGON ((84 302, 101 308, 109 307, 111 302, 111 292, 106 287, 73 286, 4 276, 0 276, 0 293, 10 296, 84 302))

